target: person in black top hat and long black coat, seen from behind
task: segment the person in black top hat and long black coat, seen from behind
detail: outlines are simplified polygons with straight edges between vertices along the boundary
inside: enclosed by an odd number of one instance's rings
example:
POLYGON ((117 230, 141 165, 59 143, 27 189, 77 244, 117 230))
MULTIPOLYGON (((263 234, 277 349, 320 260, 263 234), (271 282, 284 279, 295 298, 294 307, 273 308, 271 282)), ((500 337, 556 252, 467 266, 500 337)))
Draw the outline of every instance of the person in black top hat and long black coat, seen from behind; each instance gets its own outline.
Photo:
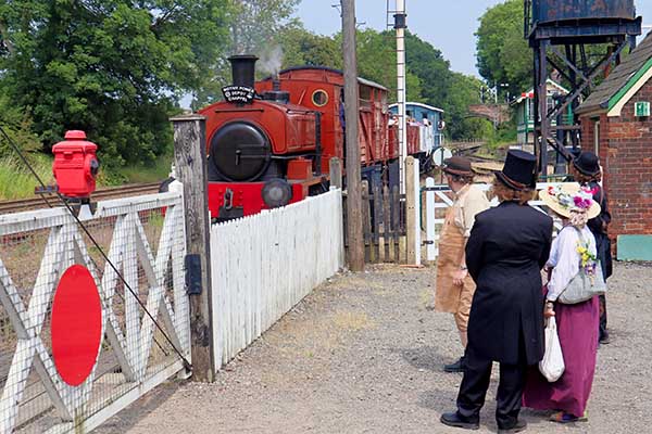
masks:
POLYGON ((457 410, 441 416, 449 426, 477 430, 491 367, 500 362, 496 396, 499 433, 525 430, 518 420, 528 365, 543 357, 541 268, 552 241, 552 218, 527 205, 534 197, 537 159, 510 151, 496 174, 496 208, 476 216, 466 265, 477 288, 468 318, 465 371, 457 410))

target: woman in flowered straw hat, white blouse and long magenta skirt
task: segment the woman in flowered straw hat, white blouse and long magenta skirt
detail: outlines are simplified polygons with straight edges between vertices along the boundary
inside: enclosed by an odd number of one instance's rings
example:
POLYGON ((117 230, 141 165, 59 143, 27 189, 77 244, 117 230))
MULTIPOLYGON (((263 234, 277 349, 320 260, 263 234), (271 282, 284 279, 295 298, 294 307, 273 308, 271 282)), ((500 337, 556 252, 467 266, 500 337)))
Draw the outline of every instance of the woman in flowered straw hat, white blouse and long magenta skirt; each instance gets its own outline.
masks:
POLYGON ((555 302, 580 268, 589 273, 601 272, 595 268, 595 239, 587 226, 589 219, 600 214, 600 205, 593 201, 593 191, 577 183, 551 187, 541 191, 540 196, 564 222, 547 264, 552 272, 543 315, 556 319, 565 370, 560 380, 549 383, 538 370, 531 369, 523 405, 538 410, 557 410, 551 416, 555 422, 584 421, 595 370, 598 297, 573 305, 555 302))

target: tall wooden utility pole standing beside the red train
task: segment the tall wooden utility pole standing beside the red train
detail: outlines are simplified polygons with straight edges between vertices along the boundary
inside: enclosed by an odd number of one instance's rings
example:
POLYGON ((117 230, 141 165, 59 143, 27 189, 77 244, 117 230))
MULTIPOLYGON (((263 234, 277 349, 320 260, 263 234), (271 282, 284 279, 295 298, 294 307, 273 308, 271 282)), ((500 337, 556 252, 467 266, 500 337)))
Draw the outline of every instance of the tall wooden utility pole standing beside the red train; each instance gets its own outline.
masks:
POLYGON ((362 234, 362 190, 360 183, 360 146, 358 143, 359 95, 358 59, 355 53, 355 0, 341 0, 344 53, 344 122, 347 139, 347 231, 349 239, 349 268, 364 269, 364 240, 362 234))

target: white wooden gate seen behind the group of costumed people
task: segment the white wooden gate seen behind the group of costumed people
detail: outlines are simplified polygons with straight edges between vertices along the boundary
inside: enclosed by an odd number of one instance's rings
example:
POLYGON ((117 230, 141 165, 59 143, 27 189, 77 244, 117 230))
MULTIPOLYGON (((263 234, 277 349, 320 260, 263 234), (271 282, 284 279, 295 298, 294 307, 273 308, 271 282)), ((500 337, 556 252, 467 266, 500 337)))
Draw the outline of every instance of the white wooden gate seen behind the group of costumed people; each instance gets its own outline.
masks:
MULTIPOLYGON (((537 191, 547 189, 549 186, 559 186, 560 183, 537 183, 537 191)), ((491 189, 490 184, 480 183, 476 184, 480 190, 487 192, 491 189)), ((452 191, 448 186, 436 186, 435 179, 426 179, 426 215, 425 215, 425 229, 426 229, 426 260, 432 261, 437 259, 439 255, 439 232, 441 226, 443 226, 443 217, 437 216, 437 209, 446 209, 453 204, 452 191)), ((491 206, 498 205, 498 199, 493 197, 491 206)), ((542 201, 535 200, 530 201, 529 205, 543 214, 547 213, 547 207, 542 201)), ((562 228, 562 224, 559 219, 554 221, 555 230, 562 228)))

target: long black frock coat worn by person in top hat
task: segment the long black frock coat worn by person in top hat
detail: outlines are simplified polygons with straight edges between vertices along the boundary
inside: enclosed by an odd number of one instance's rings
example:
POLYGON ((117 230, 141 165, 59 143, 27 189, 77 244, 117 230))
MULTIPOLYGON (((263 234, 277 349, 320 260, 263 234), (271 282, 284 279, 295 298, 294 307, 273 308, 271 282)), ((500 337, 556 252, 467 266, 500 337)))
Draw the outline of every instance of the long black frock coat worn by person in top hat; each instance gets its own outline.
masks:
POLYGON ((466 243, 477 284, 467 331, 476 356, 506 365, 543 357, 541 269, 551 243, 552 218, 530 206, 503 202, 476 216, 466 243))

